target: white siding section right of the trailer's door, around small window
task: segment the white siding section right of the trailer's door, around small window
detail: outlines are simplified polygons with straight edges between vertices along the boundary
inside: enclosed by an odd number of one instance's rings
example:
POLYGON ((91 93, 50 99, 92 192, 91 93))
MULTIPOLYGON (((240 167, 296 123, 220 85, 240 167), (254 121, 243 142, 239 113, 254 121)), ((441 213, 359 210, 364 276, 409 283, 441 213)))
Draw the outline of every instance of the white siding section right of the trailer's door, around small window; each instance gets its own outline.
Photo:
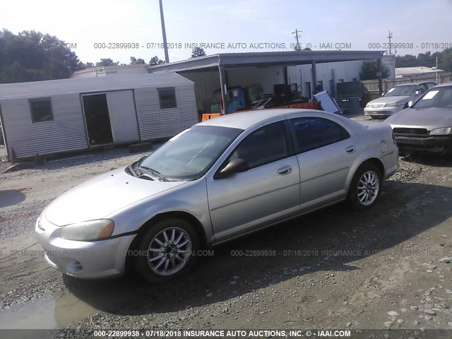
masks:
MULTIPOLYGON (((172 87, 172 86, 161 86, 172 87)), ((141 140, 169 138, 198 122, 193 84, 176 88, 176 108, 160 109, 157 88, 135 90, 141 140)))

